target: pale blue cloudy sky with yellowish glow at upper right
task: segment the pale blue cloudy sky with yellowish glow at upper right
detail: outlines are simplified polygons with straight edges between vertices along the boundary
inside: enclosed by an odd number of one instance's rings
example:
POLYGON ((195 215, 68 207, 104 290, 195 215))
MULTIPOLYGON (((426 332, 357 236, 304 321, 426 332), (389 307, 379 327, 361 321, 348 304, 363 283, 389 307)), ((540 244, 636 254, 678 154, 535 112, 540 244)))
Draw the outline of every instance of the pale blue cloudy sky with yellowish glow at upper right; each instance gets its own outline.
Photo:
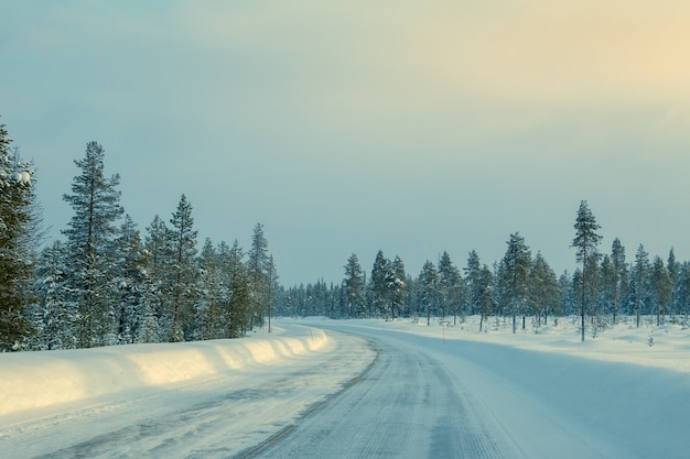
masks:
POLYGON ((95 140, 139 228, 184 193, 200 245, 265 226, 283 284, 356 253, 417 275, 519 231, 575 267, 586 199, 690 259, 686 0, 24 0, 0 7, 0 122, 60 237, 95 140))

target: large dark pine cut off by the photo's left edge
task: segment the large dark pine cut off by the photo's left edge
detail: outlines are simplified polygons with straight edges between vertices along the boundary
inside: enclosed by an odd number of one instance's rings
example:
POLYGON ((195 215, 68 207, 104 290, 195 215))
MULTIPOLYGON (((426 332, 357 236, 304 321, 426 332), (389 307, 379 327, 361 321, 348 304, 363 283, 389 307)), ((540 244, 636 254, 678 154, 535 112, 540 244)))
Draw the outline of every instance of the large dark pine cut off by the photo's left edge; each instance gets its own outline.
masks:
POLYGON ((11 154, 11 142, 0 124, 0 351, 19 349, 31 330, 25 313, 31 303, 33 171, 17 151, 11 154))

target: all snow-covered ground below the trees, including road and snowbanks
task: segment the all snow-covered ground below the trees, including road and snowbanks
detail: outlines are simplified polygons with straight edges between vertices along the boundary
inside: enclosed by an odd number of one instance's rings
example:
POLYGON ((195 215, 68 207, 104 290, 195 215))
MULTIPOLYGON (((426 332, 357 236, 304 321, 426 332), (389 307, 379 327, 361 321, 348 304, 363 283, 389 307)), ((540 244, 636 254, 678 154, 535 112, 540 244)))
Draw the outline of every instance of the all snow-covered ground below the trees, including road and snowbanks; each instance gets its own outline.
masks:
POLYGON ((690 457, 689 329, 485 326, 0 354, 0 457, 690 457))

